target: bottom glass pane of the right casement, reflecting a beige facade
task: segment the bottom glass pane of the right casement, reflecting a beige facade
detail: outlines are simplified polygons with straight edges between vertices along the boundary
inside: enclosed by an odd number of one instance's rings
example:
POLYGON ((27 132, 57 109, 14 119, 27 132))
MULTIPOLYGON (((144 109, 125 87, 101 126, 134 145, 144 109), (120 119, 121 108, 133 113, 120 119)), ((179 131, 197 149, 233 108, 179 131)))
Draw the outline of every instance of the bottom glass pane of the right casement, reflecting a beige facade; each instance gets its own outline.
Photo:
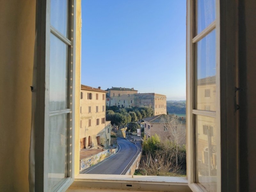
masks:
POLYGON ((215 118, 196 115, 196 182, 217 191, 215 118))

